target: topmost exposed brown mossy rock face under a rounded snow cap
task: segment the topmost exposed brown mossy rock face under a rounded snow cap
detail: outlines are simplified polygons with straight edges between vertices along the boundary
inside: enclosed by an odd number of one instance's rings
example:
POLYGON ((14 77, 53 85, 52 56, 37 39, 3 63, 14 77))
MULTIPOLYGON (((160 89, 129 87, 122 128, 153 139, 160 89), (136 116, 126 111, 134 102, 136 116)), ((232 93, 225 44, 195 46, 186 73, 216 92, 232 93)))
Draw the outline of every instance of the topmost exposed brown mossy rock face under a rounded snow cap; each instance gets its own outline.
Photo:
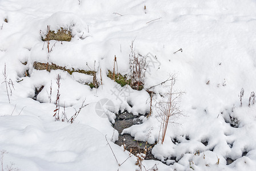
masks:
MULTIPOLYGON (((70 42, 72 35, 71 31, 67 30, 66 28, 59 29, 56 33, 55 31, 49 31, 49 40, 58 40, 58 41, 67 41, 70 42)), ((45 35, 45 38, 42 38, 43 41, 47 41, 47 36, 45 35)))

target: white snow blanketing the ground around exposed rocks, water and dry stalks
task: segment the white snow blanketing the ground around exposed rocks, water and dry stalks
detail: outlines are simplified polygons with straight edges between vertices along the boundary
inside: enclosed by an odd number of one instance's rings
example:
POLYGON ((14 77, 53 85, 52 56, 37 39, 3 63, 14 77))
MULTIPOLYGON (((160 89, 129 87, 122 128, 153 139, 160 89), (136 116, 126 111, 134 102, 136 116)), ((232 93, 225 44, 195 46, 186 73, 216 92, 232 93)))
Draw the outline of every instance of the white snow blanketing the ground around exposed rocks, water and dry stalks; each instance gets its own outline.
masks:
MULTIPOLYGON (((255 28, 253 0, 0 1, 3 170, 138 169, 135 156, 118 165, 129 157, 129 152, 114 144, 118 132, 111 124, 118 111, 146 116, 150 110, 146 88, 173 74, 177 78, 174 90, 185 92, 179 99, 183 115, 171 117, 165 141, 152 149, 154 157, 162 162, 145 160, 142 170, 154 165, 158 170, 254 170, 256 105, 248 105, 251 92, 256 91, 255 28), (70 42, 50 40, 53 50, 48 53, 41 39, 47 25, 56 31, 69 28, 73 38, 70 42), (133 40, 135 52, 149 56, 141 91, 121 88, 107 77, 108 70, 113 71, 114 56, 118 72, 129 74, 133 40), (182 51, 178 51, 180 48, 182 51), (35 70, 34 62, 75 70, 90 67, 97 71, 99 83, 101 70, 103 84, 91 89, 85 83, 91 82, 93 76, 35 70), (60 115, 65 106, 69 119, 83 100, 88 104, 72 124, 54 121, 58 74, 60 115), (14 88, 11 84, 6 87, 10 80, 14 88), (35 88, 42 86, 34 100, 35 88), (101 115, 106 112, 103 102, 113 107, 108 117, 101 115), (227 165, 227 161, 234 162, 227 165)), ((167 98, 160 96, 165 90, 164 85, 154 88, 157 94, 153 97, 152 116, 141 116, 142 124, 123 133, 151 144, 158 140, 161 123, 155 104, 167 98)))

